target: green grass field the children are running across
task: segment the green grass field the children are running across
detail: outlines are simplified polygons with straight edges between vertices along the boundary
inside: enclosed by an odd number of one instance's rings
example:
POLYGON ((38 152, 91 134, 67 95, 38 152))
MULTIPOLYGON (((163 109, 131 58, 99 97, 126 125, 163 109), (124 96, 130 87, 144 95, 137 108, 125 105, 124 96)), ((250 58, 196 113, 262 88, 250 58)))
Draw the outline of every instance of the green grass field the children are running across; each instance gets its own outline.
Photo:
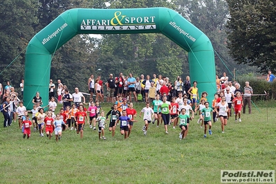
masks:
MULTIPOLYGON (((139 113, 143 105, 134 109, 139 113)), ((17 123, 3 128, 1 115, 0 183, 220 183, 221 169, 275 170, 275 102, 256 105, 242 122, 231 117, 225 134, 215 122, 207 138, 195 116, 185 140, 179 140, 178 127, 165 134, 156 124, 144 136, 141 118, 127 140, 118 127, 115 137, 106 128, 107 140, 98 140, 88 125, 82 140, 66 130, 55 142, 33 129, 27 140, 17 123)), ((108 111, 111 104, 102 107, 108 111)))

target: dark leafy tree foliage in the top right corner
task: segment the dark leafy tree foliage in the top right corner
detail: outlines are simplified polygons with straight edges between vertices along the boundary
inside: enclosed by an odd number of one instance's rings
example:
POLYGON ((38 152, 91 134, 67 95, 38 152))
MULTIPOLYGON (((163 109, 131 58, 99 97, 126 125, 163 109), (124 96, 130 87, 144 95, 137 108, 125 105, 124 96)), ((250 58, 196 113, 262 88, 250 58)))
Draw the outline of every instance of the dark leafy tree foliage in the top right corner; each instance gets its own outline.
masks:
POLYGON ((276 72, 276 4, 274 0, 228 2, 228 48, 239 64, 276 72))

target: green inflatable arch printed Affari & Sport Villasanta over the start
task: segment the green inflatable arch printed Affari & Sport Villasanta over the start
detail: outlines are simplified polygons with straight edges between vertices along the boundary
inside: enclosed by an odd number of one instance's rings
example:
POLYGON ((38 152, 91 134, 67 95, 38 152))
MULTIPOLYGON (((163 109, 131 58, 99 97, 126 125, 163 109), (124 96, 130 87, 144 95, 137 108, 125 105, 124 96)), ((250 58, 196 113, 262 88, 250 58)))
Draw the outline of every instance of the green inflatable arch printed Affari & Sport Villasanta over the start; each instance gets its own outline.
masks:
POLYGON ((48 100, 52 54, 77 34, 163 33, 187 50, 191 81, 199 93, 216 91, 214 51, 210 39, 178 12, 168 8, 71 9, 59 15, 30 40, 26 50, 24 104, 32 109, 39 91, 48 100))

